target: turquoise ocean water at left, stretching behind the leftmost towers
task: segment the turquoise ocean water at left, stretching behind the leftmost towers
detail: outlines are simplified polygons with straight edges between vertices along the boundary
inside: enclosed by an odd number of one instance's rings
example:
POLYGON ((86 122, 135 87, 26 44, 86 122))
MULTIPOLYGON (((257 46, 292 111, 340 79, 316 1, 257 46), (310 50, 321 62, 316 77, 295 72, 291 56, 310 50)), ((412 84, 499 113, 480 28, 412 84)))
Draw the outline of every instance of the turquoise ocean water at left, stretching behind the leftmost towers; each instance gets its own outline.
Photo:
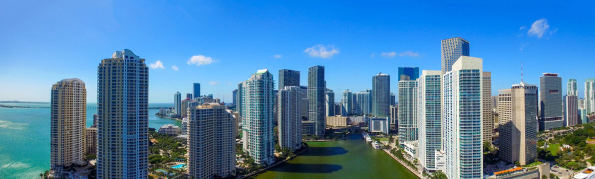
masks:
MULTIPOLYGON (((8 106, 49 107, 45 104, 0 103, 8 106)), ((97 106, 89 103, 87 106, 97 106)), ((151 103, 149 107, 171 107, 151 103)), ((164 124, 181 126, 173 119, 156 117, 159 110, 149 110, 149 127, 164 124)), ((87 109, 87 127, 93 124, 95 109, 87 109)), ((0 108, 0 178, 38 178, 49 170, 49 108, 0 108)))

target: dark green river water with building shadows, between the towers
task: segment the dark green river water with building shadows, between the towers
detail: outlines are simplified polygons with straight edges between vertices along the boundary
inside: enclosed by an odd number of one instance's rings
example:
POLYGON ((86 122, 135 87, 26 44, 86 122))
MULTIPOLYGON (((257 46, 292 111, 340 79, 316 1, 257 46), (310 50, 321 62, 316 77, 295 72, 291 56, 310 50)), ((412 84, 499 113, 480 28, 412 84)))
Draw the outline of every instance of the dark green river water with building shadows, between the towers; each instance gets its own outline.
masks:
POLYGON ((308 142, 310 149, 252 178, 418 178, 360 134, 334 142, 308 142))

